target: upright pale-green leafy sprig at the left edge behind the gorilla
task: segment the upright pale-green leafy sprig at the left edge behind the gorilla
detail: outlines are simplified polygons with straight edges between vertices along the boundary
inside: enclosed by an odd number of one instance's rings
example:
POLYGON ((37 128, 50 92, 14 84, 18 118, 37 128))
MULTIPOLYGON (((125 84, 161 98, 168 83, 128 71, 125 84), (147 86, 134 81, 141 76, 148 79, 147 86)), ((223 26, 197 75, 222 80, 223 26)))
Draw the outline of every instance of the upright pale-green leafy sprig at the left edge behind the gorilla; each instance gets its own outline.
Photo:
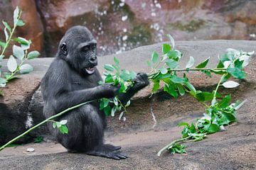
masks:
MULTIPOLYGON (((7 68, 9 72, 1 72, 0 70, 0 88, 5 87, 6 84, 11 80, 15 79, 16 74, 26 74, 33 70, 30 64, 24 64, 26 60, 31 60, 38 57, 40 54, 38 51, 28 52, 31 45, 31 40, 26 40, 25 38, 13 38, 14 32, 17 27, 24 26, 25 23, 21 20, 22 11, 19 10, 18 6, 14 10, 14 23, 13 27, 9 26, 9 23, 2 21, 4 24, 4 35, 5 42, 0 40, 0 62, 5 57, 6 49, 9 47, 11 42, 16 42, 17 45, 13 45, 12 51, 13 55, 9 57, 7 62, 7 68), (18 60, 18 62, 17 62, 18 60)), ((0 68, 1 68, 0 64, 0 68)), ((0 96, 3 96, 3 92, 0 90, 0 96)))

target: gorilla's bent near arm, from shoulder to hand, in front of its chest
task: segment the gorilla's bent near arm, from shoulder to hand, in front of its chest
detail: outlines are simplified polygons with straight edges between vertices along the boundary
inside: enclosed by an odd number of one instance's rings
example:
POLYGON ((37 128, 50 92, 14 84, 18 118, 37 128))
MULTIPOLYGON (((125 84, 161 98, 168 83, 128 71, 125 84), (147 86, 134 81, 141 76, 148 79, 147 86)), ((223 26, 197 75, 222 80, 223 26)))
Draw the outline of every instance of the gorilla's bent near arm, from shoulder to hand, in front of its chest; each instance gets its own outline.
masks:
MULTIPOLYGON (((48 102, 52 103, 56 112, 78 105, 86 101, 99 98, 112 98, 117 94, 118 88, 110 84, 103 84, 93 88, 72 91, 70 84, 70 68, 63 60, 56 60, 52 67, 51 76, 46 80, 48 88, 48 102)), ((43 84, 42 84, 43 86, 43 84)))

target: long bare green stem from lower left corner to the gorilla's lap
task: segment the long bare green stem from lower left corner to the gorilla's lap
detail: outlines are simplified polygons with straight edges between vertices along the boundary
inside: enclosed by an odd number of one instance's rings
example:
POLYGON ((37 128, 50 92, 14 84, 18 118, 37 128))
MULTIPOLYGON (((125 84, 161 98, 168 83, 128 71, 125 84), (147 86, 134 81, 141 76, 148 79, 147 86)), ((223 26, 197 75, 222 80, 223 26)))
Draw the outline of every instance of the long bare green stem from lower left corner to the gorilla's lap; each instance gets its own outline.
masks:
POLYGON ((32 130, 34 130, 34 129, 38 128, 39 126, 43 125, 44 123, 48 122, 49 120, 52 120, 52 119, 54 119, 54 118, 57 118, 58 116, 63 115, 64 113, 67 113, 68 111, 71 111, 71 110, 73 110, 73 109, 75 109, 75 108, 79 108, 80 106, 83 106, 83 105, 85 105, 85 104, 87 104, 87 103, 91 103, 91 102, 92 102, 92 101, 87 101, 87 102, 84 102, 84 103, 80 103, 80 104, 78 104, 78 105, 76 105, 76 106, 67 108, 67 109, 65 109, 64 111, 62 111, 62 112, 60 112, 60 113, 58 113, 58 114, 56 114, 56 115, 53 115, 53 116, 51 116, 50 118, 47 118, 46 120, 43 120, 41 123, 38 123, 37 125, 34 125, 32 128, 30 128, 30 129, 27 130, 26 132, 23 132, 21 135, 18 135, 18 136, 15 137, 14 139, 12 139, 12 140, 10 140, 9 142, 7 142, 5 145, 1 146, 1 147, 0 147, 0 151, 1 151, 2 149, 4 149, 5 147, 7 147, 8 145, 10 145, 11 143, 13 143, 13 142, 15 142, 16 140, 20 139, 20 138, 23 137, 24 135, 28 134, 28 132, 31 132, 32 130))

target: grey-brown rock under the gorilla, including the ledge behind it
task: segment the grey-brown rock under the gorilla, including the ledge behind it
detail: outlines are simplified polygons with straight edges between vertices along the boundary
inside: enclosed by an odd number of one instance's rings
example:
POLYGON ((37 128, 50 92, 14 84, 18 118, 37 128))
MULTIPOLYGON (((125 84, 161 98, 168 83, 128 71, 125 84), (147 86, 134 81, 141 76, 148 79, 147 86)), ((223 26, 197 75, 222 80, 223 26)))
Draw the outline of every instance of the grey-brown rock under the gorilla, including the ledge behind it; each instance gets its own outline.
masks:
MULTIPOLYGON (((186 64, 189 56, 195 57, 197 62, 211 56, 210 65, 216 64, 218 53, 223 53, 227 47, 252 51, 255 50, 256 42, 234 40, 176 42, 176 48, 183 52, 182 65, 186 64)), ((161 44, 139 47, 116 56, 124 69, 149 72, 144 61, 150 59, 153 50, 161 51, 161 44)), ((100 72, 102 72, 103 64, 112 63, 113 56, 99 57, 100 72)), ((5 122, 8 125, 7 129, 10 129, 12 125, 15 126, 19 121, 16 120, 15 110, 13 113, 10 112, 9 116, 4 117, 6 112, 3 106, 15 108, 19 105, 20 108, 16 108, 17 110, 23 108, 22 112, 18 113, 23 118, 21 120, 25 120, 28 114, 31 114, 33 123, 42 118, 41 96, 36 93, 32 100, 31 96, 51 60, 39 58, 29 61, 35 71, 23 75, 22 79, 16 79, 9 84, 8 89, 5 89, 6 96, 1 98, 0 109, 0 117, 1 120, 4 118, 4 121, 0 123, 5 122), (26 91, 30 92, 26 94, 26 91), (29 107, 26 108, 27 106, 29 107)), ((161 147, 180 137, 181 129, 176 128, 177 123, 191 122, 200 117, 203 107, 190 96, 174 100, 159 93, 148 98, 150 89, 144 89, 133 98, 125 122, 119 121, 118 116, 109 119, 109 128, 105 135, 107 142, 122 145, 129 159, 117 162, 85 154, 69 154, 59 144, 48 141, 4 149, 0 152, 0 169, 255 169, 255 68, 256 58, 253 57, 246 69, 247 79, 240 82, 239 88, 229 91, 220 89, 223 93, 231 93, 234 100, 247 99, 245 106, 238 111, 238 123, 228 126, 225 132, 208 135, 206 140, 188 143, 187 154, 166 153, 161 157, 156 156, 156 152, 161 147), (156 122, 152 120, 152 114, 155 115, 156 122), (28 148, 34 148, 35 151, 26 152, 28 148)), ((197 89, 212 89, 217 83, 216 78, 209 79, 202 74, 191 74, 190 77, 197 89)), ((26 124, 19 123, 22 125, 16 129, 21 130, 22 127, 23 130, 26 124)), ((41 130, 41 132, 44 131, 41 130)))

